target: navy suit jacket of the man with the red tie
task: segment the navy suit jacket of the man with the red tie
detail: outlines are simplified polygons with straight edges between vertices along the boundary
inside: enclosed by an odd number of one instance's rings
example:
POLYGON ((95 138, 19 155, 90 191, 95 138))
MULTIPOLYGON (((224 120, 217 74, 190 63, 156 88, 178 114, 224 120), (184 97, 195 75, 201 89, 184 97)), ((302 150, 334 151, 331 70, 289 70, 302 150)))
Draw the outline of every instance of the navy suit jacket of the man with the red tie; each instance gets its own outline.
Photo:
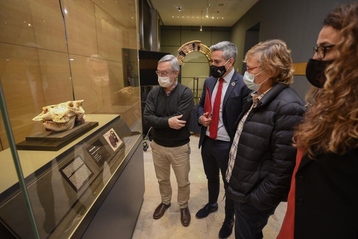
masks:
MULTIPOLYGON (((237 73, 235 70, 233 71, 234 71, 234 75, 232 76, 229 82, 223 100, 223 112, 222 112, 223 123, 226 132, 228 133, 229 136, 233 135, 233 132, 235 131, 235 129, 233 129, 233 126, 238 116, 241 114, 241 111, 245 108, 247 96, 251 92, 251 90, 248 89, 245 83, 243 82, 242 80, 243 76, 237 73)), ((203 94, 200 97, 200 102, 197 110, 198 120, 199 117, 204 114, 206 86, 209 87, 210 94, 212 95, 217 80, 218 80, 217 78, 211 76, 206 78, 204 81, 203 94)), ((200 146, 203 143, 205 131, 207 127, 204 127, 202 124, 199 123, 199 121, 198 124, 199 126, 202 126, 200 139, 199 139, 199 148, 200 148, 200 146)))

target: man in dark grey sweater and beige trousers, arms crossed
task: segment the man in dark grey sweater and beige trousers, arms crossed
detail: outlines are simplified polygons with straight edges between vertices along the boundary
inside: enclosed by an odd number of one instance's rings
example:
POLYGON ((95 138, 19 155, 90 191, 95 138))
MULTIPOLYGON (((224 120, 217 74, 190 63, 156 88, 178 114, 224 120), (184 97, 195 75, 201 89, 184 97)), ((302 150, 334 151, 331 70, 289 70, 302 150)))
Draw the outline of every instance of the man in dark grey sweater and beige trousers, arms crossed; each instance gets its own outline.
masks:
POLYGON ((161 203, 155 209, 153 218, 161 218, 170 207, 171 165, 178 182, 180 221, 183 226, 189 226, 189 119, 194 106, 193 92, 175 80, 179 73, 179 62, 175 56, 162 57, 156 73, 161 87, 149 92, 144 109, 145 124, 152 127, 153 132, 150 146, 161 195, 161 203))

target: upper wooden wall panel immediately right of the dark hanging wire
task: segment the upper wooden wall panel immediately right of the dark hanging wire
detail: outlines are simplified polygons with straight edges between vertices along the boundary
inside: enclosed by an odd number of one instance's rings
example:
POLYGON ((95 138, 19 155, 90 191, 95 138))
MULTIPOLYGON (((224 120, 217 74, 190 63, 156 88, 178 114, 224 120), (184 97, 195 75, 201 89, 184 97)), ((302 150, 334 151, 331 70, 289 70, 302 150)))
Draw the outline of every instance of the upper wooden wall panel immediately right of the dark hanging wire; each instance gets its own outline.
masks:
POLYGON ((95 4, 88 0, 62 0, 66 9, 68 52, 81 56, 98 54, 95 4))

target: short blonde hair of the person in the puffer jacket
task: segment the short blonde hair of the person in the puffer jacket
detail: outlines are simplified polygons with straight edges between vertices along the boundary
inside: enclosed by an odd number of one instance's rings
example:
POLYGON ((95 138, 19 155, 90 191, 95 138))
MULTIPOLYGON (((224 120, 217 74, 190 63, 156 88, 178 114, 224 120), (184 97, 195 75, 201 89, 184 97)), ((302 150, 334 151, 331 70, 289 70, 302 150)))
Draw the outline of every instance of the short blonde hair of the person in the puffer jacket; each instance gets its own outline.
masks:
POLYGON ((252 56, 257 57, 260 67, 274 74, 271 78, 272 85, 282 83, 290 86, 293 83, 295 69, 291 51, 287 49, 284 41, 274 39, 258 43, 246 53, 243 62, 246 63, 252 56))

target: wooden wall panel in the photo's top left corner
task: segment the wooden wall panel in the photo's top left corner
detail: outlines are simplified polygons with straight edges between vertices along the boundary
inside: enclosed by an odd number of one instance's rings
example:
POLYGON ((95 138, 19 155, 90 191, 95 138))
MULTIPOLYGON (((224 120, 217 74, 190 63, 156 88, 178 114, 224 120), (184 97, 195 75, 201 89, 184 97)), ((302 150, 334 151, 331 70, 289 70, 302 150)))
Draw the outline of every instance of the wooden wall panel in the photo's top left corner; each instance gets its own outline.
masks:
POLYGON ((1 42, 67 52, 59 1, 0 1, 1 42))

